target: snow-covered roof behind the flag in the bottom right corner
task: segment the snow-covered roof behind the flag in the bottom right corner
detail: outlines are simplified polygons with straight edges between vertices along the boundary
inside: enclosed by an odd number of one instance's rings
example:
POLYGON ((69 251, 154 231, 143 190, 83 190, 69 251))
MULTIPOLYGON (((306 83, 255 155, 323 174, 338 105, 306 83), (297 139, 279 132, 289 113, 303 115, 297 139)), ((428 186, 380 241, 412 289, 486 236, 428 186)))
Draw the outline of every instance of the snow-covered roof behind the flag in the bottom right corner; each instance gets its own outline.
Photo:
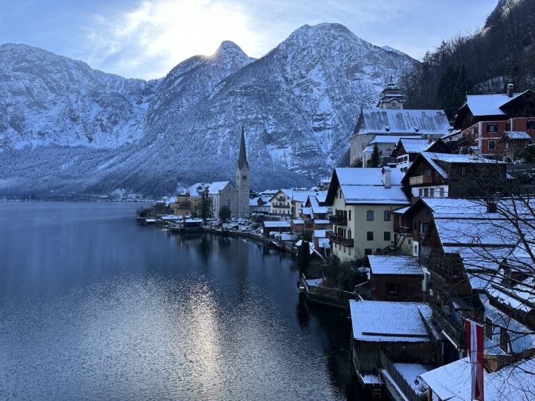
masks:
MULTIPOLYGON (((471 401, 470 359, 463 358, 422 373, 420 377, 441 400, 471 401)), ((531 399, 527 389, 535 388, 535 358, 525 359, 496 372, 483 369, 486 401, 531 399)))

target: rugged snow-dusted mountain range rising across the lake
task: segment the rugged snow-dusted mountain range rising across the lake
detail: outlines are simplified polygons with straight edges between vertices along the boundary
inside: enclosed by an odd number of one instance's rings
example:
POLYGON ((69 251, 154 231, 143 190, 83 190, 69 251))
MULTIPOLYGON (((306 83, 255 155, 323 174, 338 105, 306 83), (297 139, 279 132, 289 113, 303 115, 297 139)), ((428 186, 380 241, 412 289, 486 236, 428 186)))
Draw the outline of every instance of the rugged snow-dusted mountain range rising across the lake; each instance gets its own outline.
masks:
POLYGON ((414 63, 340 24, 302 26, 258 60, 223 42, 155 81, 1 45, 0 194, 162 194, 232 178, 241 123, 253 187, 309 184, 330 175, 360 107, 414 63))

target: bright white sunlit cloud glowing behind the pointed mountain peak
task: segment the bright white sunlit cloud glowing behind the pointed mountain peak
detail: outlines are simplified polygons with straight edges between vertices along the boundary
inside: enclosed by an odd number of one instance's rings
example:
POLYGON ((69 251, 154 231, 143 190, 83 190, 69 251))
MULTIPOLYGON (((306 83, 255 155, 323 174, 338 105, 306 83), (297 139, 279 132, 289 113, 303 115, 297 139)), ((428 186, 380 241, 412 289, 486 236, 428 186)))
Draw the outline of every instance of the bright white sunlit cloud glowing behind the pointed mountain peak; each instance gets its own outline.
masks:
POLYGON ((91 66, 127 77, 163 77, 195 54, 212 54, 222 40, 258 53, 258 32, 239 4, 208 0, 144 1, 120 15, 95 15, 84 27, 80 54, 91 66))

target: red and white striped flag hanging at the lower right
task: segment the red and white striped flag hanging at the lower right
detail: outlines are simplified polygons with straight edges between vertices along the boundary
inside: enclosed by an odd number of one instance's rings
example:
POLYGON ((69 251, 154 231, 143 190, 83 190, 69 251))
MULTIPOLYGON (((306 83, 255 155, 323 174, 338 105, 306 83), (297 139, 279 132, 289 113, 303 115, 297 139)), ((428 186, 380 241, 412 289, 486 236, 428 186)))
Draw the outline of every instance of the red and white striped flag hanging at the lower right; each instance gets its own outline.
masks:
POLYGON ((472 366, 472 400, 484 401, 483 397, 483 327, 465 320, 468 356, 472 366))

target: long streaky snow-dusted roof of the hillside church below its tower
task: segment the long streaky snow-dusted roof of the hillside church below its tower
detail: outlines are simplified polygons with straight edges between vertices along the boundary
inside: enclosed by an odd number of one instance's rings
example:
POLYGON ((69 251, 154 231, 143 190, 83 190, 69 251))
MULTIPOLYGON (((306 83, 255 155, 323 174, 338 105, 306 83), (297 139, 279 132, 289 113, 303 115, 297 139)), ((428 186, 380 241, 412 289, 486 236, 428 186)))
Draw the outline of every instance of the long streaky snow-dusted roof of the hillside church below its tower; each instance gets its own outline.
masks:
POLYGON ((447 134, 443 110, 362 109, 357 134, 447 134))

